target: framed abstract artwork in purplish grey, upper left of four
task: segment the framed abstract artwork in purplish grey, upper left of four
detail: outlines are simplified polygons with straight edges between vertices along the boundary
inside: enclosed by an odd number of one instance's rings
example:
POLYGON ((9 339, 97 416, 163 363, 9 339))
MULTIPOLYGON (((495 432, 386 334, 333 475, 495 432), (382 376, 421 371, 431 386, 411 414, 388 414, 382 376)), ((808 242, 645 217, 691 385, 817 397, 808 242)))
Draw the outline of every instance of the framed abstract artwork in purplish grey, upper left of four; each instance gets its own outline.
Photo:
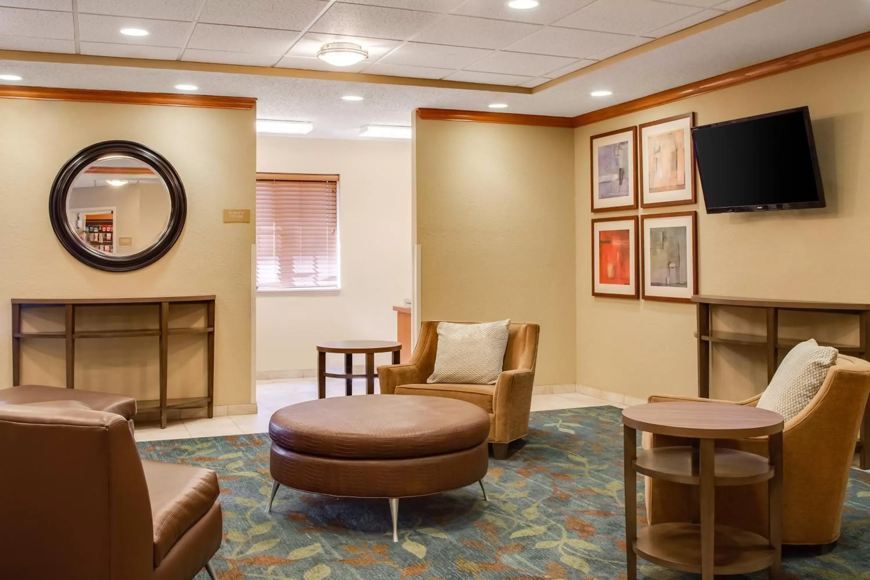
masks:
POLYGON ((592 211, 638 207, 638 128, 593 135, 589 144, 592 211))

